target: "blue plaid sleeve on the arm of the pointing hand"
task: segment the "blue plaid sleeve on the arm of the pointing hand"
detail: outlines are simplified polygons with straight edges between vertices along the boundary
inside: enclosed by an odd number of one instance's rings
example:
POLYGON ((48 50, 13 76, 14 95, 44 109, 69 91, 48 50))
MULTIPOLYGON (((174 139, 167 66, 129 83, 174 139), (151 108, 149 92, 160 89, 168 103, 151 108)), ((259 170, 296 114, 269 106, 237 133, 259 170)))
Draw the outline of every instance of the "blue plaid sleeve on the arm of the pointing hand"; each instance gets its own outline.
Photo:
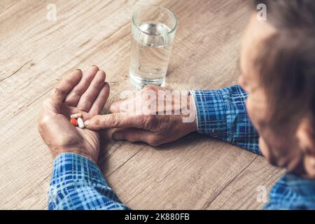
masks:
POLYGON ((190 91, 190 94, 195 99, 200 134, 228 141, 261 155, 258 132, 246 113, 248 94, 239 85, 221 90, 190 91))

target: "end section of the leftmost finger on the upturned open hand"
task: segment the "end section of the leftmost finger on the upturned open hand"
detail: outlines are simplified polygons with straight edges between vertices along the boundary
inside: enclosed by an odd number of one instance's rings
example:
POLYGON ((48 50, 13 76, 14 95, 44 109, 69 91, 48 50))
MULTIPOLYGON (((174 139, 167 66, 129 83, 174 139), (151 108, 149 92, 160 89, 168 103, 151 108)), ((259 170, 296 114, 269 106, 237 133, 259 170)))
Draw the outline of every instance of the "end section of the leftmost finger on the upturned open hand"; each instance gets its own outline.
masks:
POLYGON ((80 70, 73 71, 69 73, 69 75, 67 75, 65 78, 62 78, 62 80, 60 80, 59 83, 57 83, 56 87, 60 92, 62 92, 62 94, 66 95, 69 92, 71 92, 71 90, 73 89, 73 87, 76 86, 76 84, 80 82, 81 78, 82 71, 80 70))

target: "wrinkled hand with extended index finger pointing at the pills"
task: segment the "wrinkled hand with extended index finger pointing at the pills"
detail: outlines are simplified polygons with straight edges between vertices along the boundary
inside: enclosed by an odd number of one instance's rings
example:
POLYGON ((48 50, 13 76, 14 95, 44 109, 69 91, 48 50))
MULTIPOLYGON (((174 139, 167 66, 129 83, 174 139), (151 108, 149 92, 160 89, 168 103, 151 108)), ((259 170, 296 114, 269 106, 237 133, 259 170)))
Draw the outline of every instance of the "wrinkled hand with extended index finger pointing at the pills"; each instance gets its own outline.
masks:
POLYGON ((113 132, 113 139, 144 141, 151 146, 175 141, 197 130, 195 105, 188 92, 176 99, 171 91, 148 85, 135 97, 113 103, 110 110, 111 114, 86 120, 85 127, 115 127, 118 129, 113 132))

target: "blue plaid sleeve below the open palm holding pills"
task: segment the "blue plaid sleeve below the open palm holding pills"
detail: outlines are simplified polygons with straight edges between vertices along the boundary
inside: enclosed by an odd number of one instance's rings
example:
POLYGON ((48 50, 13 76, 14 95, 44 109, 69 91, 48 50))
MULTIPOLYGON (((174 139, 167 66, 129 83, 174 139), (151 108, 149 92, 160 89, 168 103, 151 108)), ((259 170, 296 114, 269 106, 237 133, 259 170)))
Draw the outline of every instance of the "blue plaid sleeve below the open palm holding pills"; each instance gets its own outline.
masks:
POLYGON ((128 209, 106 183, 99 167, 75 153, 55 158, 48 209, 128 209))

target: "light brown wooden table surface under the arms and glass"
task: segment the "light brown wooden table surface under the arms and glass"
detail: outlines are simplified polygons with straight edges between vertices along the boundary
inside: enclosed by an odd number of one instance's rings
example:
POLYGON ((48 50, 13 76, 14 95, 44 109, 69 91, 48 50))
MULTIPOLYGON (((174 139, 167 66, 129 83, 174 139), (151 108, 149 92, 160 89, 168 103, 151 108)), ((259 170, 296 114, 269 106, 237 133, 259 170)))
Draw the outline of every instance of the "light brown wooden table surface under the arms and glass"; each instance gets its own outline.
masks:
MULTIPOLYGON (((132 90, 130 18, 149 4, 179 18, 166 87, 237 83, 240 39, 251 14, 246 1, 1 0, 0 209, 47 208, 52 157, 36 128, 41 103, 66 73, 92 64, 111 85, 106 108, 132 90)), ((113 141, 110 134, 102 132, 99 167, 133 209, 261 209, 258 187, 269 190, 283 174, 258 155, 200 134, 160 147, 113 141)))

